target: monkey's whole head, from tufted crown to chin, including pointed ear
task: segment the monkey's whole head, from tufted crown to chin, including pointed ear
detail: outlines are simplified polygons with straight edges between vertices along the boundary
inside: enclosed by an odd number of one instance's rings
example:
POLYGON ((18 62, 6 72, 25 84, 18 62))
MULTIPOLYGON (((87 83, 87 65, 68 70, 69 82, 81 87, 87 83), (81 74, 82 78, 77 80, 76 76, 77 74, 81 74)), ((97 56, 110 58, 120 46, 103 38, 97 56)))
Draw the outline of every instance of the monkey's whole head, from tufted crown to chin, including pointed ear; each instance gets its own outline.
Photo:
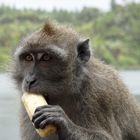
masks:
POLYGON ((58 37, 58 31, 48 28, 47 35, 33 33, 17 48, 14 78, 22 92, 57 98, 72 94, 78 87, 74 84, 82 74, 79 70, 90 58, 89 40, 79 42, 67 32, 58 37))

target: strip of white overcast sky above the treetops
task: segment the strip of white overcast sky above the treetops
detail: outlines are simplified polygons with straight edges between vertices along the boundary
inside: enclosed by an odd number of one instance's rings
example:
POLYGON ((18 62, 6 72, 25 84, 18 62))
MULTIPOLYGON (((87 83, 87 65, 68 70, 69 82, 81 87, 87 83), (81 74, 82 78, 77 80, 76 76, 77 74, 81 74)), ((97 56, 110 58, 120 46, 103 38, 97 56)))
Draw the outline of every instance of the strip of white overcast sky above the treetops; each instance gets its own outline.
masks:
MULTIPOLYGON (((116 0, 117 3, 124 2, 140 2, 140 0, 116 0)), ((102 10, 109 9, 110 0, 0 0, 0 5, 9 5, 16 8, 32 8, 32 9, 67 9, 80 10, 83 6, 97 7, 102 10)))

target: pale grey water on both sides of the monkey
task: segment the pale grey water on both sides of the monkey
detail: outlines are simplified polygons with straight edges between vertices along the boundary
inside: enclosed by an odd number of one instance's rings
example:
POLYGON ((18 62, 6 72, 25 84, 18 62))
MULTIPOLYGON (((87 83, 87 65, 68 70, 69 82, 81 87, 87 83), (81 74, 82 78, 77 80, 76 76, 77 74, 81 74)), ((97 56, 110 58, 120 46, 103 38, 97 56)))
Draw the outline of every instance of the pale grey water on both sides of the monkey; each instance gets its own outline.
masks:
MULTIPOLYGON (((120 72, 133 94, 140 94, 140 71, 120 72)), ((0 74, 0 138, 20 140, 18 92, 7 74, 0 74)))

